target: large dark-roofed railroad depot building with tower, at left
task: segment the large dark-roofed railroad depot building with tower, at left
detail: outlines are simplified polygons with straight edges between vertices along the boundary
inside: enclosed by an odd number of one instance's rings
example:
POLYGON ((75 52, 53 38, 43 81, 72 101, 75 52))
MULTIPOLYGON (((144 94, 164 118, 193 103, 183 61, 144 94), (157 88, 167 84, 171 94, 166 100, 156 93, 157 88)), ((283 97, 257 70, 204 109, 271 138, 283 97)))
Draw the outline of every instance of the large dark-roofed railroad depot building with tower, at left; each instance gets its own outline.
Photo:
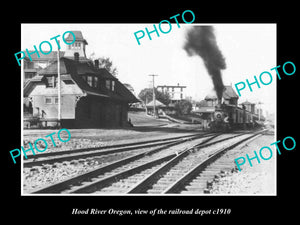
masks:
MULTIPOLYGON (((73 31, 74 32, 74 31, 73 31)), ((61 126, 66 128, 123 127, 130 103, 136 97, 99 62, 86 59, 78 39, 59 58, 61 78, 61 126), (78 43, 80 44, 78 44, 78 43), (73 57, 71 55, 73 54, 73 57)), ((58 125, 58 60, 51 62, 24 86, 24 128, 58 125)))

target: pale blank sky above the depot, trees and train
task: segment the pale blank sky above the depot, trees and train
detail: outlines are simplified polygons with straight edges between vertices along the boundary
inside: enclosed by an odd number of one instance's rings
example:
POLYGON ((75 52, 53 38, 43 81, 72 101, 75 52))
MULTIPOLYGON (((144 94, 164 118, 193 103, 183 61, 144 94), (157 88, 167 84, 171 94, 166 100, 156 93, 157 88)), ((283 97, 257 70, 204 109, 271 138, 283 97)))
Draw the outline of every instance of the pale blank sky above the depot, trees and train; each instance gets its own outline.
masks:
MULTIPOLYGON (((153 23, 154 24, 154 23, 153 23)), ((172 23, 169 33, 152 33, 152 40, 147 34, 140 39, 138 45, 134 33, 147 27, 153 30, 153 24, 22 24, 21 50, 33 50, 42 41, 61 35, 66 31, 80 30, 87 40, 87 57, 109 57, 118 69, 117 78, 129 83, 138 94, 143 88, 155 85, 187 86, 186 96, 194 100, 202 100, 213 91, 213 84, 199 56, 188 56, 183 49, 186 32, 192 26, 211 25, 214 27, 217 44, 226 61, 226 69, 222 70, 225 85, 238 82, 254 81, 263 71, 273 75, 270 85, 253 85, 241 91, 239 103, 246 100, 262 102, 261 108, 269 113, 276 112, 276 75, 270 69, 277 66, 276 62, 276 24, 180 24, 172 23)), ((155 23, 158 27, 158 23, 155 23)), ((168 26, 164 24, 165 26, 168 26)), ((168 27, 162 27, 168 30, 168 27)), ((146 32, 145 32, 146 33, 146 32)), ((61 36, 61 50, 65 50, 61 36)), ((57 50, 55 40, 50 41, 53 51, 57 50)), ((46 48, 45 48, 46 50, 46 48)), ((268 78, 266 77, 265 82, 268 78)))

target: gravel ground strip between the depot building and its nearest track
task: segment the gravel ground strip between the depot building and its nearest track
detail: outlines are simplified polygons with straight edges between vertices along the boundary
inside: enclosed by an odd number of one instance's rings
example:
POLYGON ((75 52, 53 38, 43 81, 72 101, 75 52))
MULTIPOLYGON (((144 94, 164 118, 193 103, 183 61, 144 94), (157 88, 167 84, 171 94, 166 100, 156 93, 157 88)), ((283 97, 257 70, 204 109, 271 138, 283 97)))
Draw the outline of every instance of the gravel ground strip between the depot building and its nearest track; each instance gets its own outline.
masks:
MULTIPOLYGON (((71 138, 68 142, 61 142, 58 139, 57 133, 59 129, 30 129, 23 130, 23 145, 28 149, 29 142, 33 145, 35 140, 43 138, 47 141, 48 151, 61 151, 69 149, 80 149, 88 147, 103 147, 116 144, 133 143, 140 141, 148 141, 154 139, 179 137, 182 135, 190 135, 203 132, 199 125, 188 124, 172 124, 162 123, 161 126, 135 126, 124 129, 68 129, 71 138), (45 137, 55 132, 52 136, 55 142, 55 147, 50 137, 45 137)), ((67 140, 68 134, 65 131, 61 132, 61 139, 67 140)), ((37 142, 37 147, 41 150, 45 148, 43 141, 37 142)), ((45 152, 46 152, 45 151, 45 152)), ((31 154, 31 152, 28 152, 31 154)))

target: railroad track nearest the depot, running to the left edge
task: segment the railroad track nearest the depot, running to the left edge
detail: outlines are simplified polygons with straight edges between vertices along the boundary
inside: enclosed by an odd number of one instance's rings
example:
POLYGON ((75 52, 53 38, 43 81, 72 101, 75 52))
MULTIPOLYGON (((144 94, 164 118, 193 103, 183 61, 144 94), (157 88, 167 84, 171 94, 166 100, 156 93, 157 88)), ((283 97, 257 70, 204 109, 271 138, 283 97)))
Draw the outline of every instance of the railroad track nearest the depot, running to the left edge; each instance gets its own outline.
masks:
POLYGON ((85 148, 85 149, 76 149, 76 150, 66 150, 66 151, 57 151, 57 152, 49 152, 42 153, 37 155, 28 155, 27 159, 23 161, 23 166, 33 167, 33 166, 42 166, 44 164, 53 164, 53 163, 62 163, 66 161, 85 159, 90 157, 98 157, 110 154, 122 154, 121 157, 125 157, 124 152, 129 152, 139 149, 145 149, 145 151, 149 148, 153 148, 156 146, 162 145, 172 145, 177 144, 178 141, 187 141, 192 140, 199 137, 206 137, 212 134, 193 134, 187 135, 183 137, 173 137, 173 138, 165 138, 165 139, 156 139, 151 141, 143 141, 143 142, 135 142, 128 143, 122 145, 113 145, 113 146, 105 146, 105 147, 94 147, 94 148, 85 148))

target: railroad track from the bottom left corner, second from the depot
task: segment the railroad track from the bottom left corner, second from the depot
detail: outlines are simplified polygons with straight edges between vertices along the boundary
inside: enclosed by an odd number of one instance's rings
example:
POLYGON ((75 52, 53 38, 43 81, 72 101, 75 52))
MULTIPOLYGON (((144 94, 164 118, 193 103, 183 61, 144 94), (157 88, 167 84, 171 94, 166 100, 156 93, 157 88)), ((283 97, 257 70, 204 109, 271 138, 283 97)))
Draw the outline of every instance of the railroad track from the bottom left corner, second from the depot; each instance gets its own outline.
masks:
MULTIPOLYGON (((185 145, 185 142, 194 141, 196 143, 199 143, 199 139, 203 139, 207 142, 217 137, 218 135, 219 134, 205 134, 189 138, 179 138, 177 140, 173 140, 171 143, 163 144, 148 151, 142 151, 141 153, 122 158, 104 166, 100 166, 97 169, 91 170, 87 173, 74 176, 57 184, 49 185, 48 187, 33 191, 33 193, 60 193, 63 191, 70 192, 68 191, 70 188, 74 189, 73 186, 78 186, 78 184, 82 185, 82 182, 90 181, 91 179, 102 175, 108 176, 108 173, 111 173, 111 171, 113 171, 114 173, 118 173, 118 170, 128 170, 128 168, 126 167, 135 167, 136 164, 145 163, 145 160, 153 161, 155 158, 162 158, 161 161, 169 160, 171 157, 176 156, 176 149, 174 149, 175 147, 177 149, 180 149, 180 145, 185 145)), ((181 148, 183 148, 183 146, 181 146, 181 148)), ((157 162, 159 162, 159 160, 157 162)))

